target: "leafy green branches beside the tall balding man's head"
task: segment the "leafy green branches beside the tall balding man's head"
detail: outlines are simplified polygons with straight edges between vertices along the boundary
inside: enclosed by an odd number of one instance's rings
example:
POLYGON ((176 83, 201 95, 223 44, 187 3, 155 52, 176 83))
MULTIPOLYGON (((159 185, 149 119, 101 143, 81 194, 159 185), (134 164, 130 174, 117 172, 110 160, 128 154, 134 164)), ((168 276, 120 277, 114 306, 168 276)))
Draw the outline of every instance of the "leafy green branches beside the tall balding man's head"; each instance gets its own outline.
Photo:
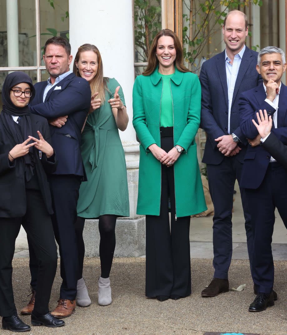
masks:
MULTIPOLYGON (((195 59, 202 53, 206 43, 210 43, 214 34, 222 28, 227 13, 249 6, 251 2, 262 5, 262 1, 259 0, 200 0, 197 8, 195 1, 183 0, 182 5, 190 12, 190 15, 182 15, 184 59, 190 69, 192 66, 195 69, 199 67, 199 64, 195 64, 195 59)), ((252 36, 251 31, 248 35, 252 36)))

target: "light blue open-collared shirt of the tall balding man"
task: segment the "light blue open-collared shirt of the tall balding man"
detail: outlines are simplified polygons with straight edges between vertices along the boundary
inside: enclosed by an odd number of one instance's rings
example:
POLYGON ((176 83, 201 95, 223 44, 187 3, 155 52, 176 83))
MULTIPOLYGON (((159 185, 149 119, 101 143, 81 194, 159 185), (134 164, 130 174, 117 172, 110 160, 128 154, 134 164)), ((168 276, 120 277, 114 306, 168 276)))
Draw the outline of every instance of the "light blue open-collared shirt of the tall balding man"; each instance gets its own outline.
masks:
MULTIPOLYGON (((239 67, 241 64, 242 56, 244 54, 246 47, 234 56, 233 63, 230 64, 230 58, 227 56, 225 49, 225 69, 226 69, 226 79, 227 79, 227 88, 228 88, 228 133, 230 134, 230 114, 231 114, 231 105, 233 92, 235 87, 235 82, 237 79, 239 67)), ((235 134, 236 135, 236 134, 235 134)))

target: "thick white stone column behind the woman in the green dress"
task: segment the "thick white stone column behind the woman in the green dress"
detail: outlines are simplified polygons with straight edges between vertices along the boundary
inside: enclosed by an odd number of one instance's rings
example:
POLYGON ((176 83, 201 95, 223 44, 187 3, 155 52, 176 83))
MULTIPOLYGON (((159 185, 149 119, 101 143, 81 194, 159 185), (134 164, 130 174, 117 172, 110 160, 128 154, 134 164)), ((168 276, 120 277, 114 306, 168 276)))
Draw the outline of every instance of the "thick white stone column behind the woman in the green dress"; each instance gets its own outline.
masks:
MULTIPOLYGON (((84 43, 96 45, 101 53, 104 76, 121 84, 129 115, 128 128, 120 131, 125 151, 129 186, 130 216, 116 225, 115 256, 145 254, 145 217, 136 215, 138 194, 139 143, 132 125, 132 88, 134 83, 133 15, 131 0, 86 0, 79 10, 78 0, 69 0, 69 36, 72 55, 84 43)), ((115 162, 115 168, 117 163, 115 162)), ((86 220, 84 229, 86 256, 99 254, 98 220, 86 220)))

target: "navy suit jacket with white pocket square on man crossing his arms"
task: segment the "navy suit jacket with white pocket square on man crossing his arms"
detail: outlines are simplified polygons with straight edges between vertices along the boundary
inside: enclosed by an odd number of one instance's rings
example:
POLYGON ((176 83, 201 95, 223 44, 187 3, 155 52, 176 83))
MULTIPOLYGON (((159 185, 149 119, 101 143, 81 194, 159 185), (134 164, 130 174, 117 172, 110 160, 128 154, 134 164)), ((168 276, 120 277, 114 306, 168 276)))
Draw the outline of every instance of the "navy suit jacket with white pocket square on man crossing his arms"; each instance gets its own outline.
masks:
POLYGON ((52 146, 57 153, 56 175, 76 175, 86 180, 81 155, 81 130, 91 104, 91 89, 87 80, 70 73, 47 93, 43 93, 47 81, 35 84, 36 96, 30 106, 31 112, 47 120, 68 115, 61 128, 50 125, 52 146), (56 87, 60 87, 57 89, 56 87))

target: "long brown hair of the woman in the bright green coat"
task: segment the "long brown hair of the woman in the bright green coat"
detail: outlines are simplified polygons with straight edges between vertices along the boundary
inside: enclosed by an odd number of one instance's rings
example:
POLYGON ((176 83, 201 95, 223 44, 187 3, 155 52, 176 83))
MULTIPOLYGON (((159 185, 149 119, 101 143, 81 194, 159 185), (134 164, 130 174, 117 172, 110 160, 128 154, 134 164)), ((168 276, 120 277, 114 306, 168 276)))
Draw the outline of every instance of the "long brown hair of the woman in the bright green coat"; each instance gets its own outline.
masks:
POLYGON ((183 51, 182 51, 180 41, 179 41, 178 37, 176 36, 176 34, 170 29, 162 29, 156 34, 155 38, 152 41, 152 44, 151 44, 151 47, 150 47, 150 50, 149 50, 149 54, 148 54, 147 68, 145 69, 145 71, 142 74, 144 76, 149 76, 150 74, 153 73, 153 71, 157 67, 158 59, 155 55, 156 54, 156 46, 157 46, 158 39, 162 36, 170 36, 170 37, 173 38, 174 47, 175 47, 175 50, 176 50, 176 58, 175 58, 174 62, 175 62, 175 66, 176 66, 177 70, 180 71, 180 72, 191 72, 183 64, 183 51))

